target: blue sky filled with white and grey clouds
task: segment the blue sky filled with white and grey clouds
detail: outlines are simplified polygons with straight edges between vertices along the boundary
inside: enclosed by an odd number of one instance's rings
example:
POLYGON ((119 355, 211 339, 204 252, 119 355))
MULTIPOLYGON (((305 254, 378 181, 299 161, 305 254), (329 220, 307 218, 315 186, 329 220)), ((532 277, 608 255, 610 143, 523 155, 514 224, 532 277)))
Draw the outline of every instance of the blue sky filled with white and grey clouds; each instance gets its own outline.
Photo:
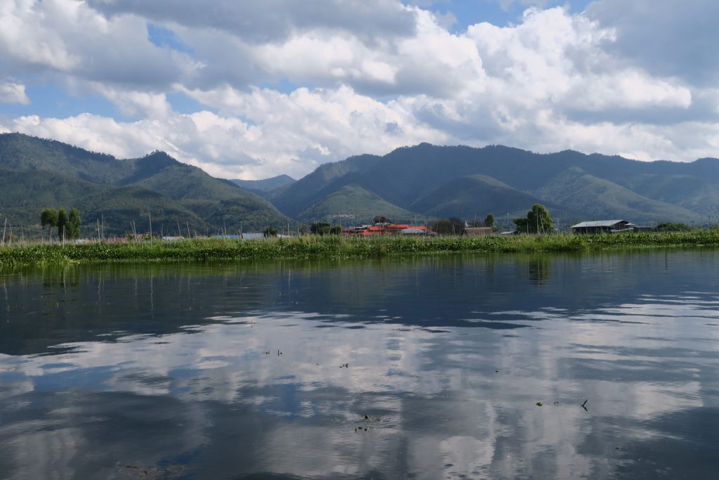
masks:
POLYGON ((431 142, 719 157, 715 0, 0 0, 0 132, 300 178, 431 142))

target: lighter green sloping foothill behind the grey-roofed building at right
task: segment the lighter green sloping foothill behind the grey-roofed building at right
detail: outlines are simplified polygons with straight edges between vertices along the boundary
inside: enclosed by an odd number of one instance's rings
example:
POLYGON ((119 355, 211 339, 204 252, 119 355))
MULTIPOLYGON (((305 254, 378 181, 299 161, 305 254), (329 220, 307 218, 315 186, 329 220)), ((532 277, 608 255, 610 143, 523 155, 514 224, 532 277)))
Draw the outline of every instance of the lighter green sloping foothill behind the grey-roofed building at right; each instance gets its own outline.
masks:
POLYGON ((577 167, 568 168, 534 193, 546 201, 582 212, 585 219, 612 217, 631 222, 661 222, 667 219, 700 221, 696 212, 648 199, 577 167))

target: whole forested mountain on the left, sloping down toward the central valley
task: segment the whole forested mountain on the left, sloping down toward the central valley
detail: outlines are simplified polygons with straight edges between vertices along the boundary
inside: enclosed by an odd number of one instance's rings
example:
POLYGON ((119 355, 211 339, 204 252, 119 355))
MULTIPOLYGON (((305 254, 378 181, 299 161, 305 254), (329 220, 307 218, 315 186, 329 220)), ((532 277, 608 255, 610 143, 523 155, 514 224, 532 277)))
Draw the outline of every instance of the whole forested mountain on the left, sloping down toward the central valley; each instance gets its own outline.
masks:
POLYGON ((54 140, 0 135, 0 217, 39 232, 40 210, 76 207, 83 235, 104 217, 107 235, 153 228, 237 233, 294 222, 261 196, 166 153, 118 160, 54 140))

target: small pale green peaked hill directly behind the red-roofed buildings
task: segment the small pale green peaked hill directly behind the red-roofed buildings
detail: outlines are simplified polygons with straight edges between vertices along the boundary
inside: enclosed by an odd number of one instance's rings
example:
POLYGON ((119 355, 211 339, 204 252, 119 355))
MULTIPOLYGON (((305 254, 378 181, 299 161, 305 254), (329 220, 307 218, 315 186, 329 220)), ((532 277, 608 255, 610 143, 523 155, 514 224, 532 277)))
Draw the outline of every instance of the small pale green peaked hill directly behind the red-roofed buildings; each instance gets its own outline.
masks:
POLYGON ((305 209, 298 218, 306 223, 329 222, 349 226, 371 223, 372 217, 379 214, 385 215, 393 222, 424 219, 354 184, 342 186, 305 209))

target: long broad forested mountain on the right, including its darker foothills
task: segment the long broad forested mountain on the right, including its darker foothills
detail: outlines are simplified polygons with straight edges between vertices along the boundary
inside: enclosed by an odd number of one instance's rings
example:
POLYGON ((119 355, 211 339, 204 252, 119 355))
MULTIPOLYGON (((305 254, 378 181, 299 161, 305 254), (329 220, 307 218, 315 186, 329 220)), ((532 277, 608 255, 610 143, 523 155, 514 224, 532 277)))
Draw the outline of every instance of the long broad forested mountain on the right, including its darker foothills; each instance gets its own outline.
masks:
POLYGON ((606 218, 705 224, 717 222, 719 213, 716 159, 640 162, 572 150, 537 154, 499 145, 423 143, 382 157, 360 155, 321 166, 270 198, 280 211, 298 216, 349 185, 428 217, 462 214, 473 219, 493 213, 503 220, 526 213, 535 202, 545 204, 555 218, 562 217, 564 225, 606 218))

